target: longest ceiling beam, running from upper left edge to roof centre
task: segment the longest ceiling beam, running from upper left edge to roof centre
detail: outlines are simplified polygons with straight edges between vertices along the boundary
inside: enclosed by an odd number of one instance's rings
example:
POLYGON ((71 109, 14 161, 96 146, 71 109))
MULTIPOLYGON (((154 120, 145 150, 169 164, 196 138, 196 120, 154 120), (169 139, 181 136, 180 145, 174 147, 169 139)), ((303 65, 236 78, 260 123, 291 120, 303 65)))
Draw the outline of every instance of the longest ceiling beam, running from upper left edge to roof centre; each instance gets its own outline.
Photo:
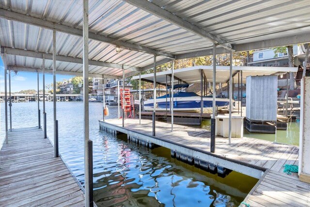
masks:
MULTIPOLYGON (((18 22, 23 22, 26 24, 35 25, 35 26, 46 28, 49 30, 56 30, 58 32, 73 34, 73 35, 80 36, 80 37, 82 37, 82 35, 83 35, 82 30, 79 30, 79 29, 76 29, 73 27, 68 27, 68 26, 65 26, 62 24, 50 22, 50 21, 43 20, 40 18, 36 18, 33 16, 27 16, 27 15, 23 15, 20 13, 7 11, 5 9, 0 9, 0 17, 8 19, 8 20, 13 20, 13 21, 18 21, 18 22)), ((126 48, 126 49, 130 49, 130 50, 134 50, 134 51, 140 51, 140 52, 146 52, 149 54, 155 54, 158 56, 165 56, 165 57, 174 59, 174 55, 171 55, 171 54, 167 54, 167 53, 164 53, 164 52, 152 49, 152 48, 147 48, 144 46, 140 46, 140 45, 124 42, 121 40, 113 39, 113 38, 110 38, 107 36, 95 34, 92 32, 89 32, 89 39, 93 39, 93 40, 96 40, 99 42, 109 43, 111 45, 115 45, 115 46, 118 46, 121 48, 126 48)))

